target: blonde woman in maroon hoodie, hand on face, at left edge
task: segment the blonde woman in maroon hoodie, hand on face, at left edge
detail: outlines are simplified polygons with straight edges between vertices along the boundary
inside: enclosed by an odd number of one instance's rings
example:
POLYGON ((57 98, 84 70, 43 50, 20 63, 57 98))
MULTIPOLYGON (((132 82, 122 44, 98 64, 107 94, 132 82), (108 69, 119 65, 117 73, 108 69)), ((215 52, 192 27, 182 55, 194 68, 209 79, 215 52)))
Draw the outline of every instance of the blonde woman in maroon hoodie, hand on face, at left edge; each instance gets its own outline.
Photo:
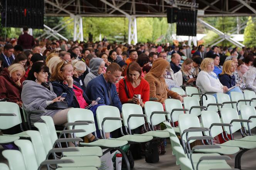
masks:
POLYGON ((22 91, 22 84, 20 79, 24 74, 24 66, 19 63, 12 64, 8 68, 3 69, 0 74, 0 99, 8 98, 8 102, 17 103, 21 107, 20 93, 22 91))

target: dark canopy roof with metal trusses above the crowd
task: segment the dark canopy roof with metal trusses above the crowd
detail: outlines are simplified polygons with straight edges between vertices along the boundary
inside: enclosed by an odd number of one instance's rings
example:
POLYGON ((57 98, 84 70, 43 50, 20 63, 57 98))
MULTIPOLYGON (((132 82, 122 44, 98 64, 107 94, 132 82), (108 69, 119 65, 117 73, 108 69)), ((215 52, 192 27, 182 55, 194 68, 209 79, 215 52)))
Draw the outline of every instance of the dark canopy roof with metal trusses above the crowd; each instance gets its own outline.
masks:
POLYGON ((199 17, 256 15, 256 0, 45 0, 45 15, 166 17, 170 7, 202 10, 199 17))

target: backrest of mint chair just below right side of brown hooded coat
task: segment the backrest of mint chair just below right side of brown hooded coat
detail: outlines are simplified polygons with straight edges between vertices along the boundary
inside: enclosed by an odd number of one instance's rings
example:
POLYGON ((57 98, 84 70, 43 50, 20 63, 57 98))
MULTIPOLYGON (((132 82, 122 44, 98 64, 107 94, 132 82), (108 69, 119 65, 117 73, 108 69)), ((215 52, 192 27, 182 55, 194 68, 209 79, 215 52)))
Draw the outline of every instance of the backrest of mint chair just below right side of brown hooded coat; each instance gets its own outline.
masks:
MULTIPOLYGON (((177 100, 177 99, 166 99, 165 100, 165 111, 171 113, 172 109, 174 109, 174 108, 183 108, 182 107, 182 103, 180 102, 180 100, 177 100)), ((178 118, 179 118, 180 114, 184 114, 184 112, 183 111, 175 111, 175 112, 173 112, 173 114, 172 114, 173 122, 178 121, 178 118)), ((171 120, 171 115, 170 114, 167 115, 167 119, 171 120)))

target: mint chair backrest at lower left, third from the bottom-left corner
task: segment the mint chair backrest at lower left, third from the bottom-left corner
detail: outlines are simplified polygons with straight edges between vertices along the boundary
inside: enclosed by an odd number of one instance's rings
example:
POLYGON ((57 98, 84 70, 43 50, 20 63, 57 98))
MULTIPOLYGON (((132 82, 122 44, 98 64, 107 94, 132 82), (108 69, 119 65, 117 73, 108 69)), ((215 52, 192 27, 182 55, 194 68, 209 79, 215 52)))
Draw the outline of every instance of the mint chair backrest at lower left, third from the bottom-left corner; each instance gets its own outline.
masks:
POLYGON ((27 170, 37 169, 39 165, 37 164, 34 147, 30 140, 20 139, 14 141, 14 143, 19 147, 19 150, 23 155, 27 170))

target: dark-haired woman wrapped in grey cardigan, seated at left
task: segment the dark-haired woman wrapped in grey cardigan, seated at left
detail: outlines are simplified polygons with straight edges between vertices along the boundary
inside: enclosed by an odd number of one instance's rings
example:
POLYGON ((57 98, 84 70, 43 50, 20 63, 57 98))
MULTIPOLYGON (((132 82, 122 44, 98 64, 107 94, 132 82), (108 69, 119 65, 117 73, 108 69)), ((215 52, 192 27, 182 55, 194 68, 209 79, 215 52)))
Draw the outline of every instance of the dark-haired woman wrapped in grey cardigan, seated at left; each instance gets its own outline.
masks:
POLYGON ((40 118, 43 115, 51 116, 56 125, 63 125, 67 122, 67 112, 64 110, 46 110, 45 108, 53 102, 59 102, 60 96, 52 90, 52 84, 47 82, 49 68, 43 62, 36 62, 32 65, 27 80, 23 82, 21 99, 26 112, 42 110, 44 113, 31 113, 30 121, 43 122, 40 118))

